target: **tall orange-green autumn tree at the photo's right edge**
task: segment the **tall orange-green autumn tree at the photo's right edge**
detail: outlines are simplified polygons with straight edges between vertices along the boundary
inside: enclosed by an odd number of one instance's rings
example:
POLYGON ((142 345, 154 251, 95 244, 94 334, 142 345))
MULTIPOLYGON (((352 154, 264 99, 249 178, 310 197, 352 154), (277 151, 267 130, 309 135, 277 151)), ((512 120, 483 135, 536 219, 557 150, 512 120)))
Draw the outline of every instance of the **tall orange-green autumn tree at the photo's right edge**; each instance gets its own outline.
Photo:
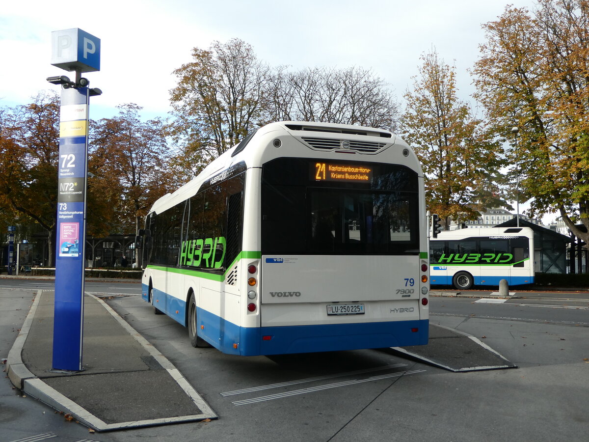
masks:
POLYGON ((519 128, 509 155, 531 215, 559 212, 589 240, 589 2, 540 0, 530 14, 508 6, 484 25, 474 68, 477 97, 497 133, 519 128))

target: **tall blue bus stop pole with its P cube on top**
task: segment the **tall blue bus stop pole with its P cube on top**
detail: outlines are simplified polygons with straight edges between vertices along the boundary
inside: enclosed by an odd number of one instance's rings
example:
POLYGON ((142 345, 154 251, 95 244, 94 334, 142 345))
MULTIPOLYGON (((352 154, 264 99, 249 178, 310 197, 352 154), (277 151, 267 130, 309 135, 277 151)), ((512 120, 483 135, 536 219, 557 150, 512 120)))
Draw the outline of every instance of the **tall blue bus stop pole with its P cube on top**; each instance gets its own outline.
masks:
POLYGON ((53 329, 54 370, 82 370, 89 89, 82 72, 100 70, 100 39, 81 29, 51 34, 51 64, 75 71, 47 81, 61 84, 57 196, 57 251, 53 329))

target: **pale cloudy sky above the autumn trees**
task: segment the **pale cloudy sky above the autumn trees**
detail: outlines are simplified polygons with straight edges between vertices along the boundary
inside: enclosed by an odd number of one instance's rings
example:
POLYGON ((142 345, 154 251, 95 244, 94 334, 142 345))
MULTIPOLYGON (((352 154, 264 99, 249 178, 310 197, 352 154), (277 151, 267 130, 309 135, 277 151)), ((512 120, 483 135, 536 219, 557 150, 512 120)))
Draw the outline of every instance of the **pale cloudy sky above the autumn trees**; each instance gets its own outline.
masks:
MULTIPOLYGON (((512 0, 533 8, 534 0, 512 0)), ((459 95, 474 91, 467 72, 484 42, 481 24, 495 20, 505 0, 47 0, 5 1, 0 8, 0 107, 30 103, 59 87, 52 75, 51 32, 80 28, 101 40, 101 70, 88 72, 90 118, 112 117, 135 103, 144 118, 166 117, 171 72, 194 47, 240 38, 271 66, 371 69, 401 100, 418 73, 419 57, 436 48, 455 64, 459 95)), ((74 75, 70 75, 71 78, 74 75)), ((525 207, 525 206, 524 206, 525 207)), ((521 207, 523 209, 524 207, 521 207)))

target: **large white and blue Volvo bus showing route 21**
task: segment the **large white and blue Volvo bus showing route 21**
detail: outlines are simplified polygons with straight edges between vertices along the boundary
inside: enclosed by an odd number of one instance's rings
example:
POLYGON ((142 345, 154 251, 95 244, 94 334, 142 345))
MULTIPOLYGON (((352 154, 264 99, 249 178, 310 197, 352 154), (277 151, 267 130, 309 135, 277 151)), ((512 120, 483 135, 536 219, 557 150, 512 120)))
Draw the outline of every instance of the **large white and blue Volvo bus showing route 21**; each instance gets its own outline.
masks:
POLYGON ((426 344, 425 213, 389 131, 268 124, 154 203, 143 298, 229 354, 426 344))

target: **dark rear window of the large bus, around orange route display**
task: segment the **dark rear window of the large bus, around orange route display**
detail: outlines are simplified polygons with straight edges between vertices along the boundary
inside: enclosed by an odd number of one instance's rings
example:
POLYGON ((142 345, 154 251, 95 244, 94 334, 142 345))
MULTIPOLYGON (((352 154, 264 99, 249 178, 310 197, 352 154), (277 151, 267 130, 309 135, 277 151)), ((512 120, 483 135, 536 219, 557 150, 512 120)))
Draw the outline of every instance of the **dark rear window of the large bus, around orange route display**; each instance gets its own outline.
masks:
MULTIPOLYGON (((284 160, 284 159, 283 159, 284 160)), ((292 160, 292 159, 286 159, 292 160)), ((300 161, 300 160, 297 160, 300 161)), ((262 180, 262 253, 406 255, 419 252, 418 193, 413 177, 391 164, 370 165, 370 183, 309 179, 309 169, 288 167, 289 185, 262 180), (293 169, 301 173, 299 178, 293 169), (298 181, 298 182, 297 182, 298 181)), ((309 161, 309 160, 305 160, 309 161)), ((308 165, 309 163, 307 163, 308 165)), ((311 164, 313 166, 313 164, 311 164)), ((409 171, 411 172, 411 171, 409 171)), ((276 180, 279 181, 279 180, 276 180)))

